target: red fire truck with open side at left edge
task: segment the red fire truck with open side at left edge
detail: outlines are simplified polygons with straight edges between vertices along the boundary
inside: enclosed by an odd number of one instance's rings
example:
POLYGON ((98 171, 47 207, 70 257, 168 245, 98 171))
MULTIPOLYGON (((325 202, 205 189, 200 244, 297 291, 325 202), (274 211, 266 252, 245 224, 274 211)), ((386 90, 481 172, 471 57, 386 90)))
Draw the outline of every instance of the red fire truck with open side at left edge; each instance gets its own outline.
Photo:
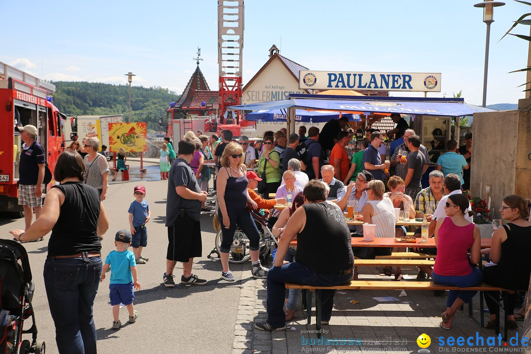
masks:
MULTIPOLYGON (((39 80, 16 68, 0 62, 0 212, 22 216, 18 205, 17 182, 22 140, 18 129, 31 124, 37 127, 37 142, 46 152, 50 171, 65 148, 64 127, 71 125, 70 140, 76 140, 75 116, 66 116, 53 105, 55 85, 39 80)), ((55 180, 47 188, 52 186, 55 180)), ((45 192, 45 191, 43 191, 45 192)))

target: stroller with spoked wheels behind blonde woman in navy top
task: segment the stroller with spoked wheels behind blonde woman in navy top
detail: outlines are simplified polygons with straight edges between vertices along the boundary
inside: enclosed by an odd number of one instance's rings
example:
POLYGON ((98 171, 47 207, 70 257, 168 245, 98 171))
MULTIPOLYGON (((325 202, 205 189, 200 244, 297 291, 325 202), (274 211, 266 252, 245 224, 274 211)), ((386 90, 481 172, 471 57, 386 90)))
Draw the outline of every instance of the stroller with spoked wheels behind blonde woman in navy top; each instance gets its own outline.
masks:
MULTIPOLYGON (((256 227, 260 232, 260 261, 262 264, 267 265, 269 263, 269 256, 277 248, 277 239, 271 233, 271 230, 267 227, 265 222, 265 215, 259 215, 255 210, 251 211, 251 215, 256 223, 256 227)), ((229 262, 230 263, 244 263, 251 260, 251 254, 249 253, 249 238, 244 232, 236 225, 234 231, 233 244, 230 246, 229 262)), ((221 247, 221 229, 216 234, 216 248, 212 249, 208 258, 212 257, 212 254, 217 254, 219 257, 219 248, 221 247)))

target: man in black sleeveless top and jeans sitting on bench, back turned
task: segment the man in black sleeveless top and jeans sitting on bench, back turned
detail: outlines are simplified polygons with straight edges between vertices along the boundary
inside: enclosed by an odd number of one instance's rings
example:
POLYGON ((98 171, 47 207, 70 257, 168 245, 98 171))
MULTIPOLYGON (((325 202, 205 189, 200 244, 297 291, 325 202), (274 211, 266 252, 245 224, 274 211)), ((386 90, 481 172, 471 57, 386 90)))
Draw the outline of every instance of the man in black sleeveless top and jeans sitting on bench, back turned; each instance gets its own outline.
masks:
MULTIPOLYGON (((255 322, 261 331, 286 329, 284 306, 285 283, 310 286, 335 286, 353 278, 354 255, 350 231, 343 212, 326 202, 326 189, 318 180, 304 187, 304 204, 289 218, 282 232, 275 256, 275 267, 267 276, 267 321, 255 322), (323 235, 327 241, 323 242, 323 235), (282 265, 288 247, 297 236, 297 262, 282 265)), ((335 290, 321 290, 321 324, 327 325, 332 315, 335 290)))

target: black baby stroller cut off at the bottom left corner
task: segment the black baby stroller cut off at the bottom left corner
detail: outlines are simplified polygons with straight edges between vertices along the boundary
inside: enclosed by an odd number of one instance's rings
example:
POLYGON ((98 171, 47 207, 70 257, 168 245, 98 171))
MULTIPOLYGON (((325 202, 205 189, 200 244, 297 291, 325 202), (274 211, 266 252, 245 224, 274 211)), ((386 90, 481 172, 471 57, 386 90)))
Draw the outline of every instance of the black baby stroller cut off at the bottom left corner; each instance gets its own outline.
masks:
POLYGON ((31 281, 28 253, 18 242, 0 240, 0 354, 42 354, 46 344, 37 346, 37 326, 31 300, 35 286, 31 281), (30 329, 23 330, 31 317, 30 329), (22 334, 32 341, 22 340, 22 334))

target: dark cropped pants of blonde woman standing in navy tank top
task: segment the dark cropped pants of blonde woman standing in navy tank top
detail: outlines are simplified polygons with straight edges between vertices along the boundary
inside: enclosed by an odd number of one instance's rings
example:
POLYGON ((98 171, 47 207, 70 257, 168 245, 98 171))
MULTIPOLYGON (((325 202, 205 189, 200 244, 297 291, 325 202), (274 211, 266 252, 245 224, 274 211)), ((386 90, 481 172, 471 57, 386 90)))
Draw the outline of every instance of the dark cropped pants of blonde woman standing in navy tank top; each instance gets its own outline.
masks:
POLYGON ((249 249, 251 251, 258 251, 260 232, 258 232, 258 228, 256 227, 251 212, 247 210, 247 208, 238 210, 227 209, 227 214, 230 221, 228 229, 223 225, 223 215, 221 215, 221 210, 218 211, 219 222, 221 223, 221 247, 219 247, 219 251, 222 253, 230 252, 230 246, 232 246, 234 240, 236 224, 244 232, 245 236, 249 238, 249 249))

